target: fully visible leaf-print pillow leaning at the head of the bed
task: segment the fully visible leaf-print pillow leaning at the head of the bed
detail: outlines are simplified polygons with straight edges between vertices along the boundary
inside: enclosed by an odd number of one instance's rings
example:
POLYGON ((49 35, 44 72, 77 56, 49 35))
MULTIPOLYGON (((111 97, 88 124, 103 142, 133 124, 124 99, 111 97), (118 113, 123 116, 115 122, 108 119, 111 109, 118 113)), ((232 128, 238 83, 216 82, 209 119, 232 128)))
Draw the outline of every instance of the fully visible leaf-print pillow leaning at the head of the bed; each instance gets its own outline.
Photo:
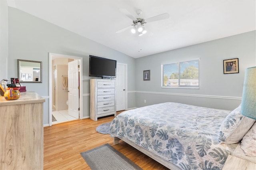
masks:
POLYGON ((222 122, 218 139, 221 143, 237 143, 252 127, 255 120, 240 113, 241 105, 234 109, 222 122))

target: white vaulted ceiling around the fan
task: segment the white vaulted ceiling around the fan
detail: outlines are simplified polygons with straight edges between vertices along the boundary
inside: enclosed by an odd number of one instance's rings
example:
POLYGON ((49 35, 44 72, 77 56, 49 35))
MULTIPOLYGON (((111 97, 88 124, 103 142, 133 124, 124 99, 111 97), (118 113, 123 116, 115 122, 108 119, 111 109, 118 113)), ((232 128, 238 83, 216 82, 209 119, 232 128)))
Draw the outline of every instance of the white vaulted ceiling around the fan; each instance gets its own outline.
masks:
POLYGON ((134 58, 255 30, 255 0, 7 0, 8 6, 56 24, 134 58), (146 19, 163 13, 170 18, 145 24, 143 36, 120 12, 126 8, 146 19))

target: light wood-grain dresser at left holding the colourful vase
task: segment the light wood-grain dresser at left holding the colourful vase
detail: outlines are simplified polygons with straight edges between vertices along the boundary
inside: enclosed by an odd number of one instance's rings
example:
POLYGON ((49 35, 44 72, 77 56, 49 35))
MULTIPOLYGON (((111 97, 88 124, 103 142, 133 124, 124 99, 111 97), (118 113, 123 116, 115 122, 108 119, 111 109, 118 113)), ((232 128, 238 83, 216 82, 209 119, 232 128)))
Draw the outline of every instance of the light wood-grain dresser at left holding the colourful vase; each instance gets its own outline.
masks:
POLYGON ((12 101, 0 97, 0 170, 43 169, 44 102, 35 92, 12 101))

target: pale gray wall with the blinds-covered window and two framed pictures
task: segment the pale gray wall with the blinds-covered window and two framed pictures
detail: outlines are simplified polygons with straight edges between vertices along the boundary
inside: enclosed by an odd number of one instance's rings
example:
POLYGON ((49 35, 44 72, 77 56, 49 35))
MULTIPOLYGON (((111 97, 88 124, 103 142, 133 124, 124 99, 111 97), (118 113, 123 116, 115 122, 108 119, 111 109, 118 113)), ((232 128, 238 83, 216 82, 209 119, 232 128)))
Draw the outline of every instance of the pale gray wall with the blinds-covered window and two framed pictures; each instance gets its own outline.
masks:
POLYGON ((241 103, 245 69, 256 65, 255 47, 252 31, 136 59, 136 107, 171 101, 236 108, 241 103), (200 89, 161 88, 161 63, 194 58, 200 58, 200 89), (223 60, 234 58, 238 58, 239 73, 224 74, 223 60), (143 70, 150 70, 150 81, 143 81, 143 70))

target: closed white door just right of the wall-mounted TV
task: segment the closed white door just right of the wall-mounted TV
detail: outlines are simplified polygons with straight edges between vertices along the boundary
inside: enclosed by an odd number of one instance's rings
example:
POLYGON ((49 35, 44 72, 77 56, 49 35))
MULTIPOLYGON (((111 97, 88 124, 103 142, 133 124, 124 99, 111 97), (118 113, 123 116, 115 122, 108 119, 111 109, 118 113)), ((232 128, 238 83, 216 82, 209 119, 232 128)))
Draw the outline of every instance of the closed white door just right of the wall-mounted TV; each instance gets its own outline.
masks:
POLYGON ((125 65, 116 64, 116 111, 125 109, 125 65))

